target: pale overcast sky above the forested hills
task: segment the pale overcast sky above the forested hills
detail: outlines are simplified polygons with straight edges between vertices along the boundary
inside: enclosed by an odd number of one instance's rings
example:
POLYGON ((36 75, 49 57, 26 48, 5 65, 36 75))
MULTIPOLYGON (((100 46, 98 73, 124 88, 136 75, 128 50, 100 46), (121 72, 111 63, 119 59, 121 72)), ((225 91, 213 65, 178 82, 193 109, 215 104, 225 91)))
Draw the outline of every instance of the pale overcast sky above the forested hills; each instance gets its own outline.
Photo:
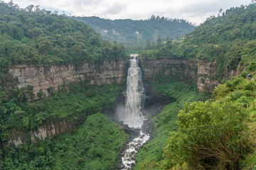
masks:
MULTIPOLYGON (((9 2, 10 0, 4 0, 9 2)), ((217 16, 220 8, 248 5, 251 0, 14 0, 24 8, 40 5, 50 11, 63 11, 68 15, 95 16, 102 18, 134 20, 147 19, 152 15, 167 18, 183 18, 199 25, 210 16, 217 16)))

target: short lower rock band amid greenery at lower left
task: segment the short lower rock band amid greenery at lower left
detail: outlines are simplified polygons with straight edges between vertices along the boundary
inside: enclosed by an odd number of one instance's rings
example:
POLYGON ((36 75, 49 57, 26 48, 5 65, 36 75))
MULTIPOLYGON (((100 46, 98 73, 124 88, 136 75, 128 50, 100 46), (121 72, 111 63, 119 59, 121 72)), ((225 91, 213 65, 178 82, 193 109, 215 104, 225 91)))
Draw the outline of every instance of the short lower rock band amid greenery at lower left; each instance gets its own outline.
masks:
POLYGON ((10 132, 9 135, 11 135, 11 137, 7 143, 14 143, 14 145, 17 146, 26 144, 28 139, 30 140, 30 142, 45 140, 46 137, 50 138, 63 132, 70 132, 71 130, 75 130, 78 125, 78 122, 67 123, 65 120, 62 120, 59 123, 55 124, 43 124, 39 126, 36 130, 30 132, 30 139, 28 138, 27 133, 21 130, 14 130, 13 132, 10 132))

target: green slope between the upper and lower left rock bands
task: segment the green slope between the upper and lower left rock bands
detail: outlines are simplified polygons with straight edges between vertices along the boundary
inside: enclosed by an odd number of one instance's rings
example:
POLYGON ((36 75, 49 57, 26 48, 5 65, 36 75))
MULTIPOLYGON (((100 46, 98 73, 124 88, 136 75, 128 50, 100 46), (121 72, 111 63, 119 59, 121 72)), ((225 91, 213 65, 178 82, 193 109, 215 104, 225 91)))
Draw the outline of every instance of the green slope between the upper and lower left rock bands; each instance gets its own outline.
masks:
POLYGON ((4 111, 0 115, 0 124, 6 126, 6 130, 14 128, 34 130, 47 121, 55 123, 65 119, 72 122, 78 117, 86 118, 87 115, 112 107, 112 103, 122 89, 121 86, 114 84, 108 86, 82 86, 82 84, 83 81, 70 84, 70 92, 62 91, 33 102, 20 100, 17 91, 13 94, 12 100, 0 105, 0 109, 4 111))

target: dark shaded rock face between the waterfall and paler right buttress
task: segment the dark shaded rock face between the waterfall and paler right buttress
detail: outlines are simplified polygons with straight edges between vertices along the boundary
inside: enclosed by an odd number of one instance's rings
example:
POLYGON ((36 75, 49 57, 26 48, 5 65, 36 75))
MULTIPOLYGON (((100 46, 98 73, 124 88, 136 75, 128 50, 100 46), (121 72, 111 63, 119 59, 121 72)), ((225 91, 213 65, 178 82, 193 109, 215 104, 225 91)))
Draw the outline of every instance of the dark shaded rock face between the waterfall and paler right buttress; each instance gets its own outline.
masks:
POLYGON ((172 75, 181 81, 196 79, 196 62, 187 60, 142 60, 144 79, 154 80, 157 77, 172 75))

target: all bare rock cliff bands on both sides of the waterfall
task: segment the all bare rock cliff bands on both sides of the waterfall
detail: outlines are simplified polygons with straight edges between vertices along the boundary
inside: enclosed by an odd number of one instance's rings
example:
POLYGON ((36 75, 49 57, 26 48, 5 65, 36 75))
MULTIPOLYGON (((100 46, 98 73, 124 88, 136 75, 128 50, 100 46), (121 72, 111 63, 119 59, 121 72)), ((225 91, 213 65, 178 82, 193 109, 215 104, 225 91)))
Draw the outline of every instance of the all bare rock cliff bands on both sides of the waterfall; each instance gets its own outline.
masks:
MULTIPOLYGON (((216 65, 210 65, 210 62, 195 60, 139 60, 142 67, 143 78, 146 81, 156 81, 157 77, 170 76, 183 81, 196 82, 199 91, 213 91, 219 82, 215 77, 216 65)), ((32 65, 16 65, 9 69, 9 73, 18 79, 18 88, 33 86, 33 93, 38 99, 38 92, 43 91, 44 96, 48 96, 48 89, 53 88, 58 91, 66 88, 67 84, 81 79, 88 79, 89 84, 123 84, 126 77, 127 60, 104 60, 101 63, 85 62, 76 67, 73 64, 53 65, 50 68, 35 67, 32 65)), ((232 70, 227 79, 240 74, 241 67, 238 70, 232 70)), ((66 123, 61 120, 59 123, 45 123, 36 130, 31 131, 30 141, 44 140, 46 137, 53 137, 61 132, 69 132, 78 126, 78 122, 66 123)), ((14 143, 25 144, 28 135, 24 132, 11 132, 7 144, 14 143)))

